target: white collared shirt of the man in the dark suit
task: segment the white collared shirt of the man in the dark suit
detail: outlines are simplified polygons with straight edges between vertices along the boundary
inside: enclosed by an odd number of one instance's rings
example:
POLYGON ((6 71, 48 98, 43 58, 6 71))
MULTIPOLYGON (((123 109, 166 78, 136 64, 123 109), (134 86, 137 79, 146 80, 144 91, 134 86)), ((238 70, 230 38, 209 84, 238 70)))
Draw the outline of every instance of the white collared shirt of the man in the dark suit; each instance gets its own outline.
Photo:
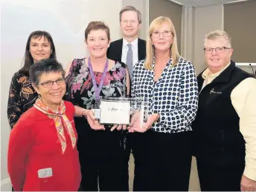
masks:
MULTIPOLYGON (((122 50, 122 59, 121 62, 126 63, 127 62, 127 53, 129 50, 128 45, 129 42, 127 42, 126 39, 123 39, 123 50, 122 50)), ((131 42, 130 44, 132 44, 132 64, 134 66, 134 64, 136 62, 138 62, 138 38, 136 38, 133 42, 131 42)))

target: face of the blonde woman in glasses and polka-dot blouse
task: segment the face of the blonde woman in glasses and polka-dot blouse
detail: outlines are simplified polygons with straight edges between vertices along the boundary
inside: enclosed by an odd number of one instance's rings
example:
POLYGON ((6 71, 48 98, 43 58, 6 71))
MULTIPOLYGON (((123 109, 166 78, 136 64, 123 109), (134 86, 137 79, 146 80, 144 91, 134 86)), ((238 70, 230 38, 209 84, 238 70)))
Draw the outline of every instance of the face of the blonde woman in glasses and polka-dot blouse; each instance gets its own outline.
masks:
POLYGON ((156 52, 170 51, 170 46, 173 44, 173 34, 170 30, 170 25, 163 23, 157 27, 157 29, 153 30, 153 33, 151 34, 151 41, 156 52))

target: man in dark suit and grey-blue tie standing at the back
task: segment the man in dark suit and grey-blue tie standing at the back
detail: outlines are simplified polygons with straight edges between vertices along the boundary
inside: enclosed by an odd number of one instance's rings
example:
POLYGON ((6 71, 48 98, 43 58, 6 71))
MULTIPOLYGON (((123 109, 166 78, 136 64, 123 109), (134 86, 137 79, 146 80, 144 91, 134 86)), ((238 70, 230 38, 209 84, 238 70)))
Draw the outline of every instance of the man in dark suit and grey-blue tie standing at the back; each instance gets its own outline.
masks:
POLYGON ((123 38, 110 43, 107 57, 127 64, 132 81, 132 67, 146 57, 146 41, 138 38, 141 13, 135 7, 127 6, 120 11, 119 19, 123 38))

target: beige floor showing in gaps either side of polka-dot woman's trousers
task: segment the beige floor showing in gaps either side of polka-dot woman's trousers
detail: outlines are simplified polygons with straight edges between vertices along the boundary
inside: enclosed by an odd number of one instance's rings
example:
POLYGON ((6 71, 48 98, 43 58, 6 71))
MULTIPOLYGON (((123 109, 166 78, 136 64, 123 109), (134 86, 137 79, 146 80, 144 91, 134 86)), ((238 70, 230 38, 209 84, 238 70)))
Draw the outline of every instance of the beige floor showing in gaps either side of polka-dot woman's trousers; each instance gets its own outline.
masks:
MULTIPOLYGON (((131 155, 129 158, 129 191, 132 191, 132 183, 134 177, 134 159, 131 155)), ((200 191, 199 179, 196 170, 196 159, 193 157, 191 166, 191 180, 189 183, 189 191, 200 191)))

